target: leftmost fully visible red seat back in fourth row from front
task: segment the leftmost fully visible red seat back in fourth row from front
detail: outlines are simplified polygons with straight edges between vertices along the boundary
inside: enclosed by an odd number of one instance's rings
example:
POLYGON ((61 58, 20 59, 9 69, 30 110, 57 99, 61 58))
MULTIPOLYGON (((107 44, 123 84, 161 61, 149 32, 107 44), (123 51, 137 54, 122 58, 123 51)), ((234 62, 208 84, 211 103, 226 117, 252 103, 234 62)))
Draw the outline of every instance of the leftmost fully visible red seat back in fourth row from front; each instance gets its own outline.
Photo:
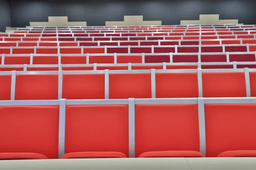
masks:
POLYGON ((29 64, 30 56, 5 56, 4 64, 6 65, 18 65, 18 64, 29 64))

